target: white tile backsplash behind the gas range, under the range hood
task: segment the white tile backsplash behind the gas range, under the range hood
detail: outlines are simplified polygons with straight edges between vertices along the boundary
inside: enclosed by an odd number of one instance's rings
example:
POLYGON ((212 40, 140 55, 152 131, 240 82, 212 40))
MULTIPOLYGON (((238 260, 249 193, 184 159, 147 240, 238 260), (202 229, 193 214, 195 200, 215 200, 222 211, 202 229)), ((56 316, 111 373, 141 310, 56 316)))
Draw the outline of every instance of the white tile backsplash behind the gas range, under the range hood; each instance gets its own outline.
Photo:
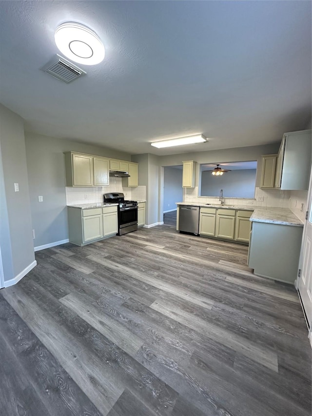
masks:
POLYGON ((135 188, 123 187, 122 178, 110 178, 109 186, 97 186, 97 187, 77 187, 66 186, 66 204, 88 204, 98 203, 103 201, 103 194, 109 192, 122 192, 125 199, 132 199, 138 201, 145 201, 146 199, 146 187, 137 186, 135 188))

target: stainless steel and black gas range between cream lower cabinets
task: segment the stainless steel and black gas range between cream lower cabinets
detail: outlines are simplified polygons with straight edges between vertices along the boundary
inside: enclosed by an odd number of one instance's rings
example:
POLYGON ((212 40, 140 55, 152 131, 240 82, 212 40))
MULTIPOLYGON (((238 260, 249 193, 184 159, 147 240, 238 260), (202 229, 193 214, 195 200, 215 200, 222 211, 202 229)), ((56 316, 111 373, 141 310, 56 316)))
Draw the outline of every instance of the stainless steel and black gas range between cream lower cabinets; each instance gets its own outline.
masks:
POLYGON ((104 202, 118 204, 118 235, 137 230, 137 201, 127 201, 121 192, 104 194, 104 202))

